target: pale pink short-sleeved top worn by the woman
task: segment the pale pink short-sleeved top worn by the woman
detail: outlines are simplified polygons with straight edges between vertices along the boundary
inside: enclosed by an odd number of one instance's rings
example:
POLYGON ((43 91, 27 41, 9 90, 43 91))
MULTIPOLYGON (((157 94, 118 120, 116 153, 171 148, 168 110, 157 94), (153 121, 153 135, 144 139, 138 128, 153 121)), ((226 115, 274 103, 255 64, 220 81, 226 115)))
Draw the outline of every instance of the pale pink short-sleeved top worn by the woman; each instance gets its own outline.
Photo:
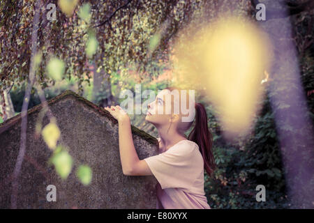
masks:
POLYGON ((211 209, 204 196, 204 160, 194 141, 181 140, 144 160, 158 180, 157 209, 211 209))

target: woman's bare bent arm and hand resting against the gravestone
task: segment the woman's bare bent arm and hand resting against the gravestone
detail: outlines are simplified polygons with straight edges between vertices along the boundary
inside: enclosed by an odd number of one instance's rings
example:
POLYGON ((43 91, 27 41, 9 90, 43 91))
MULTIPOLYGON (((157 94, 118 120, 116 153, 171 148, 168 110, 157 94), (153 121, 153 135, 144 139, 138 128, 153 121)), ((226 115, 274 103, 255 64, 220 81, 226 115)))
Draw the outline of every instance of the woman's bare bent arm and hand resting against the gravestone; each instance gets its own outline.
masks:
POLYGON ((117 119, 119 124, 119 151, 122 171, 128 176, 152 175, 147 162, 137 156, 133 143, 130 117, 121 107, 105 107, 110 114, 117 119))

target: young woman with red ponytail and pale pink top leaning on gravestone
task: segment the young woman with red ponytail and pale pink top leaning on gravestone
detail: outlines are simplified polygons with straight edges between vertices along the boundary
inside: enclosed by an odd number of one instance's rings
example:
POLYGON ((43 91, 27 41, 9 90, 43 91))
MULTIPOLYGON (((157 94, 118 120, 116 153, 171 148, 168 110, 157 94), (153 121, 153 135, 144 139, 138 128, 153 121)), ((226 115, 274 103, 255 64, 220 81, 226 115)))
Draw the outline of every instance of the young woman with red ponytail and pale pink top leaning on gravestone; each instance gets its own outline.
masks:
MULTIPOLYGON (((145 119, 158 130, 159 154, 144 160, 139 160, 135 151, 128 114, 119 105, 105 109, 119 123, 119 151, 123 173, 128 176, 154 175, 158 180, 156 208, 210 209, 204 196, 204 168, 210 176, 215 164, 207 114, 202 104, 195 103, 195 127, 186 139, 184 132, 193 124, 193 119, 182 121, 184 115, 181 111, 174 112, 174 106, 181 107, 181 92, 171 87, 163 89, 156 100, 148 105, 145 119), (168 94, 171 97, 171 92, 175 90, 179 92, 179 99, 174 97, 171 106, 166 106, 165 98, 168 94), (159 111, 162 111, 161 114, 159 111)), ((191 100, 190 96, 185 98, 191 100)))

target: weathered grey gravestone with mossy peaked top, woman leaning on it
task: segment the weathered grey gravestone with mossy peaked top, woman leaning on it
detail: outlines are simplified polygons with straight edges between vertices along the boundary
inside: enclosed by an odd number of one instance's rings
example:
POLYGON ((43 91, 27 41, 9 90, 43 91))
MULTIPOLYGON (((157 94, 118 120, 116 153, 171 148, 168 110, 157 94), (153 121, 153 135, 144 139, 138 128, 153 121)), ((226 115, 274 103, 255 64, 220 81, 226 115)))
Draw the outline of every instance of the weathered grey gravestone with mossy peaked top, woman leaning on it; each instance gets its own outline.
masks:
MULTIPOLYGON (((35 137, 43 106, 28 110, 27 144, 20 172, 17 208, 156 208, 156 178, 125 176, 119 154, 118 124, 109 112, 73 91, 47 101, 61 131, 58 145, 68 148, 73 169, 62 180, 47 161, 52 151, 43 137, 35 137), (80 183, 77 167, 87 164, 91 183, 80 183), (47 201, 48 185, 57 190, 57 201, 47 201)), ((11 180, 20 149, 20 114, 0 124, 0 208, 10 208, 11 180)), ((47 114, 43 127, 49 123, 47 114)), ((158 141, 132 126, 140 160, 158 154, 158 141)))

